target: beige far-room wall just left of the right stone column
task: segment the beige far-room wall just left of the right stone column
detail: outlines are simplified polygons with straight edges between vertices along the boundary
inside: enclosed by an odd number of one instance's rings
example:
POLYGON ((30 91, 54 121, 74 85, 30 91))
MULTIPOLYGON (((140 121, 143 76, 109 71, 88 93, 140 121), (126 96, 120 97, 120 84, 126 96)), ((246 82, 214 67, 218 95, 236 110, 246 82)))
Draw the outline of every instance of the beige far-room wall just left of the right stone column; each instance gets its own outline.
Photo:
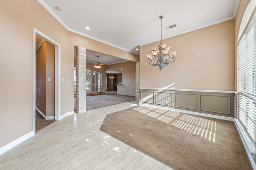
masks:
POLYGON ((128 61, 124 63, 111 64, 106 66, 106 70, 122 68, 123 86, 118 86, 117 94, 126 96, 135 96, 135 62, 128 61))

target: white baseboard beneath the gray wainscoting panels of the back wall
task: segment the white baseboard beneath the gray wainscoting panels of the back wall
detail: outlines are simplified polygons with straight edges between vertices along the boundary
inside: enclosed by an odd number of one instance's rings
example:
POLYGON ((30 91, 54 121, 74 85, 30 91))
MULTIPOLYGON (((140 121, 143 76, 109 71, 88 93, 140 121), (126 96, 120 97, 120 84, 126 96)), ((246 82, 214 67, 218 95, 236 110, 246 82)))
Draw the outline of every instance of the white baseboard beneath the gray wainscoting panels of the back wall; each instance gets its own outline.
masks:
POLYGON ((174 109, 174 108, 170 108, 170 107, 156 106, 156 105, 143 104, 143 103, 140 103, 140 105, 141 106, 148 106, 148 107, 155 107, 155 108, 160 108, 160 109, 166 109, 166 110, 171 110, 171 111, 178 111, 178 112, 187 113, 187 114, 190 114, 190 115, 198 115, 198 116, 203 116, 203 117, 210 117, 210 118, 215 118, 215 119, 234 121, 233 117, 211 115, 211 114, 207 114, 207 113, 199 113, 199 112, 195 112, 195 111, 187 111, 187 110, 174 109))

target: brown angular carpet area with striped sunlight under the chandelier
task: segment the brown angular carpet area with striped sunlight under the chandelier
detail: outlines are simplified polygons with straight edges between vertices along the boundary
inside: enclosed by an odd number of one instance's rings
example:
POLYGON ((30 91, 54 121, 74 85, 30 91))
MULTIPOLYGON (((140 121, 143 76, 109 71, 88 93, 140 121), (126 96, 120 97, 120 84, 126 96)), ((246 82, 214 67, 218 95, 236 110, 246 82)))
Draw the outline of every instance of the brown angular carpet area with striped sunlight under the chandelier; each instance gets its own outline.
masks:
POLYGON ((252 169, 232 121, 138 106, 106 115, 100 130, 175 170, 252 169))

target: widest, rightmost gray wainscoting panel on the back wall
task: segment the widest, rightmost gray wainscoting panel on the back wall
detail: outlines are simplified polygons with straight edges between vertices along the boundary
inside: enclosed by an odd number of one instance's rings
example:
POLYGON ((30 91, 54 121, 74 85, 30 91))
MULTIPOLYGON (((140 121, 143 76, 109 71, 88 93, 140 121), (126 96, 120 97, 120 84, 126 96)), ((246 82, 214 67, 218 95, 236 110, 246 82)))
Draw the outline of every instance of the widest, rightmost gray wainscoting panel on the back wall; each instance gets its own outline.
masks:
POLYGON ((230 96, 201 94, 201 110, 230 115, 230 96))

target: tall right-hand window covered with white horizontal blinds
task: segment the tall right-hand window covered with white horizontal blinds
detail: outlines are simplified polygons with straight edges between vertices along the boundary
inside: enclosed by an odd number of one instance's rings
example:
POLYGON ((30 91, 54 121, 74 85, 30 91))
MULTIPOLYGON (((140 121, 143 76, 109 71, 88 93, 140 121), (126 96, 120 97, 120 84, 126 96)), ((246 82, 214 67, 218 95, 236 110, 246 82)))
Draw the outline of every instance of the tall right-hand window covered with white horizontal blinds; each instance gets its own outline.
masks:
POLYGON ((255 142, 256 137, 256 15, 238 42, 237 118, 255 142))

